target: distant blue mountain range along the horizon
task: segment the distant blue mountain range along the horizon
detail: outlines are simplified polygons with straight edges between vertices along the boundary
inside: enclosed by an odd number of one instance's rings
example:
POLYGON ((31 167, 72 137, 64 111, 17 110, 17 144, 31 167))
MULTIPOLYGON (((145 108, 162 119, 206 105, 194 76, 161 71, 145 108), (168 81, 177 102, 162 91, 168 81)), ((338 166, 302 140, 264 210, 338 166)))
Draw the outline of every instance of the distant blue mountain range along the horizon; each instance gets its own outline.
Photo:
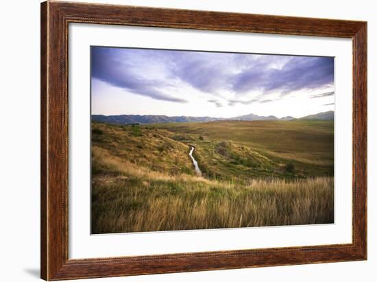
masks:
MULTIPOLYGON (((238 121, 291 121, 295 117, 275 117, 274 115, 259 116, 254 114, 241 115, 239 117, 168 117, 167 115, 92 115, 93 121, 106 122, 108 124, 167 124, 176 122, 207 122, 221 120, 238 120, 238 121)), ((301 117, 299 120, 334 120, 334 111, 317 113, 301 117)))

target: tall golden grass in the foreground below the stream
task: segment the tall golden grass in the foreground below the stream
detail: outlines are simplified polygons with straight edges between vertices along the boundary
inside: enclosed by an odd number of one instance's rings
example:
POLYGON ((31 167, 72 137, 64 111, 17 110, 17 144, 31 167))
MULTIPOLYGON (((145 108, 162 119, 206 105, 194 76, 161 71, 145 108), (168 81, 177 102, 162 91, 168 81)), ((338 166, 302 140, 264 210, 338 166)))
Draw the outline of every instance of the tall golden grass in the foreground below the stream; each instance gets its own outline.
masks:
POLYGON ((172 231, 334 222, 334 178, 241 185, 169 176, 93 147, 92 232, 172 231))

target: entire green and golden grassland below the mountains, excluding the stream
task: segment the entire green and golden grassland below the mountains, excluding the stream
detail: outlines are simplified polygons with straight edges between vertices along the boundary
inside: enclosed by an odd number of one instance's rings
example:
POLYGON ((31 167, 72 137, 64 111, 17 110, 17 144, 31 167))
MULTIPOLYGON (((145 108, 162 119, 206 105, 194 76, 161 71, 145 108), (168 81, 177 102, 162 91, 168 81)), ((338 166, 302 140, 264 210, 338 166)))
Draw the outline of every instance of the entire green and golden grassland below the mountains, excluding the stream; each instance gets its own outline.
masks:
POLYGON ((333 121, 93 122, 92 232, 332 223, 333 167, 333 121))

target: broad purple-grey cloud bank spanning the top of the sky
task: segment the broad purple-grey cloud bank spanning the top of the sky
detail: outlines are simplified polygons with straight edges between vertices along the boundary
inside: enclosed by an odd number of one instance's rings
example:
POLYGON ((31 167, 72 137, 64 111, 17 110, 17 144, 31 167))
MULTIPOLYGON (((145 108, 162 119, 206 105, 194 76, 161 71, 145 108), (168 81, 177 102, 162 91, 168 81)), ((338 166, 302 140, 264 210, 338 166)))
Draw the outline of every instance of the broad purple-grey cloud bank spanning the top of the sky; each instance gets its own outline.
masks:
POLYGON ((199 91, 214 97, 206 99, 221 107, 219 98, 230 106, 263 104, 272 102, 266 99, 269 94, 282 98, 293 91, 331 87, 334 58, 92 47, 92 75, 169 102, 189 102, 191 93, 199 91))

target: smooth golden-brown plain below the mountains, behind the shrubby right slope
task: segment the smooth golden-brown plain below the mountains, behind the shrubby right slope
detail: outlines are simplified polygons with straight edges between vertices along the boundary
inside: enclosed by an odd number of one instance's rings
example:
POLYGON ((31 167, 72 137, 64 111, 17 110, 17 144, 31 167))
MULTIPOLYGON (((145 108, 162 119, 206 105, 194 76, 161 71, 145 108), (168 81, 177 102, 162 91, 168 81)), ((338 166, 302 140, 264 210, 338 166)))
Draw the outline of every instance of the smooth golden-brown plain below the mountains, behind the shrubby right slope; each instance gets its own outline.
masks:
POLYGON ((153 126, 195 139, 203 136, 208 141, 234 141, 279 161, 295 161, 311 169, 312 174, 334 164, 334 121, 215 121, 153 126))

